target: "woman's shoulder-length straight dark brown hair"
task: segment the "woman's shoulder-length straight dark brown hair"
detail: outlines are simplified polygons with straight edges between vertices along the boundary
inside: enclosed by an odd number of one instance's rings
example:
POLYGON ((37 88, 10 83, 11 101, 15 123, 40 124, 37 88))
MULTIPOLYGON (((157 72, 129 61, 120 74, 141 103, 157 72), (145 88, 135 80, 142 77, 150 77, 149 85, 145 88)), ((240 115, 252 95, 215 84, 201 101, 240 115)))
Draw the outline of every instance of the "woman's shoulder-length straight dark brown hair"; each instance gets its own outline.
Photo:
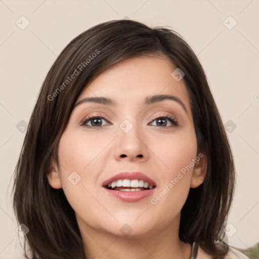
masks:
POLYGON ((226 243, 218 246, 216 241, 225 239, 235 167, 203 68, 177 32, 132 20, 113 20, 75 37, 58 56, 40 89, 13 187, 17 220, 29 228, 24 241, 26 258, 30 258, 26 247, 33 259, 88 258, 75 213, 63 190, 49 185, 50 159, 54 157, 58 162, 60 137, 85 86, 113 64, 149 54, 166 56, 185 73, 198 150, 208 161, 203 184, 190 189, 182 208, 179 237, 186 243, 196 241, 213 258, 223 258, 228 252, 226 243), (74 78, 66 81, 71 74, 74 78))

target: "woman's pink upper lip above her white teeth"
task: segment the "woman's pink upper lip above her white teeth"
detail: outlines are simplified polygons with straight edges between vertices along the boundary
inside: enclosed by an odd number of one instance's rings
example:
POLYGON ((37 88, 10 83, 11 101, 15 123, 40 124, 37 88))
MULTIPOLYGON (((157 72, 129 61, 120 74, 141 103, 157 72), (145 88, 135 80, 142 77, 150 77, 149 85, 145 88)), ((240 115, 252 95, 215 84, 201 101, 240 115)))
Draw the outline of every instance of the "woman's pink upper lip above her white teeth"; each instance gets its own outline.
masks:
POLYGON ((103 183, 103 187, 106 185, 111 184, 112 182, 115 182, 120 179, 128 179, 128 180, 142 180, 144 182, 148 182, 149 185, 156 186, 156 183, 150 179, 148 176, 143 174, 142 172, 129 172, 129 171, 123 171, 119 172, 117 175, 109 178, 103 183))

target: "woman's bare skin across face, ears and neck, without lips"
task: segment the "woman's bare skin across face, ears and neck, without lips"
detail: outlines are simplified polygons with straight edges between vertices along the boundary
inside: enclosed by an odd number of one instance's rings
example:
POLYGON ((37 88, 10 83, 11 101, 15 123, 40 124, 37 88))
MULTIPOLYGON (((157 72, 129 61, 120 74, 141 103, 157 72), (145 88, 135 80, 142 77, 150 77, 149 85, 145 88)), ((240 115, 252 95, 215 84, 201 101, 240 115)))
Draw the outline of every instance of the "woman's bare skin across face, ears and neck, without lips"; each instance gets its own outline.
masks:
MULTIPOLYGON (((187 89, 171 76, 176 68, 166 57, 127 59, 92 81, 76 101, 102 96, 117 102, 116 107, 82 103, 74 108, 60 139, 62 166, 52 159, 48 176, 53 188, 63 188, 91 258, 190 258, 191 245, 179 239, 180 211, 189 189, 204 180, 206 156, 155 205, 150 202, 199 154, 187 89), (143 105, 146 96, 166 94, 180 99, 187 112, 172 100, 143 105), (104 117, 102 127, 81 126, 89 115, 104 117), (165 115, 179 125, 153 119, 165 115), (119 127, 125 119, 133 125, 128 133, 119 127), (103 182, 122 170, 141 171, 154 180, 154 195, 138 202, 107 195, 103 182), (73 171, 81 177, 76 185, 68 181, 73 171), (124 224, 132 229, 128 236, 120 232, 124 224)), ((93 119, 87 124, 95 126, 93 119)))

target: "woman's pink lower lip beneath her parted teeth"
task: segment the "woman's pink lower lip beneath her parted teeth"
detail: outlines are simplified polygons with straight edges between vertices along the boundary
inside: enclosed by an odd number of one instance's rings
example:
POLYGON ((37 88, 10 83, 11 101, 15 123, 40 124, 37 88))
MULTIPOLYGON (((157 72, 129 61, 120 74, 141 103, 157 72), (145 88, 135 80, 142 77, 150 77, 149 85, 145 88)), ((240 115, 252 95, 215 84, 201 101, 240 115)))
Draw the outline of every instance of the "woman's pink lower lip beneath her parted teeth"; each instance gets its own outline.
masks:
POLYGON ((135 202, 142 200, 150 195, 152 195, 156 189, 152 188, 150 190, 145 191, 115 191, 115 190, 109 190, 103 187, 105 192, 107 192, 109 195, 111 195, 113 198, 119 200, 119 201, 125 201, 125 202, 135 202))

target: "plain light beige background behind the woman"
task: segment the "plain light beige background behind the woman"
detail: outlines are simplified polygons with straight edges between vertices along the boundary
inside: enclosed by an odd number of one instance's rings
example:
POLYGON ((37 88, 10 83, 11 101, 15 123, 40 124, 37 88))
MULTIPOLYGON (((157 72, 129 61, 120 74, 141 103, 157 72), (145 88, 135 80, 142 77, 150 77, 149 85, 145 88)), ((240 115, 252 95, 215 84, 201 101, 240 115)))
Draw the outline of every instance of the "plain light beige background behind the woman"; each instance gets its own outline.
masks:
POLYGON ((238 175, 229 243, 246 248, 259 241, 258 0, 3 0, 0 8, 0 258, 22 257, 10 199, 25 136, 16 125, 29 121, 42 81, 68 42, 91 26, 125 16, 149 26, 170 26, 198 55, 224 123, 236 124, 228 133, 238 175), (23 30, 21 16, 29 21, 23 30))

